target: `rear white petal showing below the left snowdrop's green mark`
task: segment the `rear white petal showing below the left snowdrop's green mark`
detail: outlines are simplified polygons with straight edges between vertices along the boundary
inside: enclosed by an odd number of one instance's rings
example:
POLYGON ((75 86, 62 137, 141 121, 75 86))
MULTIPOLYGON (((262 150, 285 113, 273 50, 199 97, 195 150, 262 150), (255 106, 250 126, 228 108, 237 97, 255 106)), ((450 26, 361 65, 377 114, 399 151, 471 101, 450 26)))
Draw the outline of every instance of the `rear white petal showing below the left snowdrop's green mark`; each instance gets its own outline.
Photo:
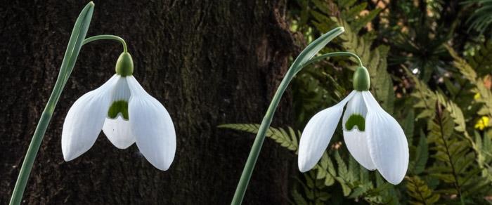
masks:
POLYGON ((110 142, 119 149, 127 149, 135 143, 135 136, 131 133, 130 122, 124 120, 121 114, 116 119, 106 117, 103 132, 110 142))

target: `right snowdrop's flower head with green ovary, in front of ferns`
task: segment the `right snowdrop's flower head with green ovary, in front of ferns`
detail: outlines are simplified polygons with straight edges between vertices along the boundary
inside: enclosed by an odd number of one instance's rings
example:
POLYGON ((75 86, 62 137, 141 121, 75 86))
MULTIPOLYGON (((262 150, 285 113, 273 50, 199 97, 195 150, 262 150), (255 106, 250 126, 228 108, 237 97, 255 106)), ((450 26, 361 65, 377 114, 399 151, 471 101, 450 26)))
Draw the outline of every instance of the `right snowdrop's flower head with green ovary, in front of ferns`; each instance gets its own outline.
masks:
POLYGON ((368 91, 369 86, 367 70, 359 67, 354 74, 355 91, 309 120, 299 142, 300 171, 309 171, 321 159, 347 104, 342 128, 352 157, 368 170, 377 169, 389 183, 403 180, 408 168, 405 133, 368 91))

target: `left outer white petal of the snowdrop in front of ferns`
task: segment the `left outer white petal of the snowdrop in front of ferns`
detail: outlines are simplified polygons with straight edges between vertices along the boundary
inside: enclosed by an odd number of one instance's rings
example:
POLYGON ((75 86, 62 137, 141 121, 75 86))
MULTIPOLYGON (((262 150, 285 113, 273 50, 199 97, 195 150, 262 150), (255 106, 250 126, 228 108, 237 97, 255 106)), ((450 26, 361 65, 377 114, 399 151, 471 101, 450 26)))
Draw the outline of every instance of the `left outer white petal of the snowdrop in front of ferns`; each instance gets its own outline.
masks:
POLYGON ((338 102, 337 105, 318 112, 306 124, 299 141, 299 157, 297 160, 299 171, 309 171, 321 159, 335 132, 335 128, 337 128, 338 121, 342 117, 345 104, 354 94, 355 91, 352 91, 347 98, 338 102))

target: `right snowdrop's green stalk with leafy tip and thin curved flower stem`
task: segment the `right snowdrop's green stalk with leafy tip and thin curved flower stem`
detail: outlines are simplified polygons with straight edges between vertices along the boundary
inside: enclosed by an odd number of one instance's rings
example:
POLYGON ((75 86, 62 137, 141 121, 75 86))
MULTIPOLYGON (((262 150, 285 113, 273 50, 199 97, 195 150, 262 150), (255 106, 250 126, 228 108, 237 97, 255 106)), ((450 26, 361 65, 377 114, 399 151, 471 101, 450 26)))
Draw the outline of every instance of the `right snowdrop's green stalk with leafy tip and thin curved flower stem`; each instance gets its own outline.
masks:
POLYGON ((258 155, 261 150, 261 146, 263 145, 263 142, 265 140, 265 133, 267 129, 270 127, 271 121, 273 119, 273 114, 275 113, 278 107, 280 98, 282 98, 282 95, 287 89, 287 86, 289 86, 290 81, 292 81, 292 79, 297 74, 297 72, 301 71, 303 67, 306 67, 306 65, 319 61, 323 58, 340 56, 340 55, 353 56, 357 58, 359 64, 362 65, 361 59, 358 58, 358 56, 355 55, 354 53, 349 53, 349 52, 327 53, 324 55, 320 55, 316 58, 313 58, 313 56, 316 55, 316 53, 318 53, 323 47, 325 47, 326 44, 328 44, 332 39, 337 37, 339 34, 342 34, 342 32, 344 32, 344 28, 337 27, 335 29, 332 29, 330 32, 326 34, 323 34, 323 36, 319 37, 318 39, 313 41, 313 43, 309 44, 309 46, 307 46, 304 49, 304 51, 302 51, 299 54, 299 56, 297 56, 296 60, 294 60, 294 62, 290 66, 289 70, 285 74, 285 77, 280 83, 280 86, 278 86, 275 95, 273 95, 273 99, 271 100, 271 103, 268 106, 268 110, 266 110, 266 114, 263 118, 263 121, 261 121, 261 125, 259 126, 257 136, 254 139, 254 143, 252 145, 250 155, 247 158, 245 168, 242 171, 242 175, 239 180, 238 187, 235 190, 233 201, 231 202, 231 204, 239 205, 242 203, 242 199, 244 198, 247 185, 248 183, 250 183, 250 178, 254 169, 254 165, 257 162, 258 155))

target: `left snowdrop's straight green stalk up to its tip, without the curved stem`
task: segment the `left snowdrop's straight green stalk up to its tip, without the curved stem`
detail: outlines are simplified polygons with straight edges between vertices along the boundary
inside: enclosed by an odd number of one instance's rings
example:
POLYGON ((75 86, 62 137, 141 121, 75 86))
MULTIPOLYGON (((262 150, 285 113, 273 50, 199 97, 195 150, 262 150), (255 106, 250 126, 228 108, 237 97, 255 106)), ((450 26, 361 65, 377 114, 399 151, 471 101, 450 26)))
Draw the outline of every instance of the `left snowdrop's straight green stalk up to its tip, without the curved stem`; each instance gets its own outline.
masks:
POLYGON ((75 66, 75 61, 77 60, 80 48, 82 47, 82 41, 84 41, 87 30, 89 29, 89 24, 91 23, 93 10, 94 4, 91 1, 84 7, 84 9, 82 9, 82 12, 79 14, 79 17, 75 22, 70 40, 68 41, 67 51, 65 51, 65 56, 60 67, 60 73, 58 74, 58 79, 56 79, 55 87, 53 88, 53 92, 46 103, 46 107, 44 107, 44 111, 41 114, 41 119, 39 119, 36 131, 34 131, 31 143, 27 149, 25 159, 20 167, 20 173, 17 178, 17 182, 15 183, 10 201, 11 205, 20 204, 22 201, 22 194, 24 194, 27 180, 29 179, 32 165, 34 164, 34 159, 36 159, 39 146, 43 140, 44 133, 46 133, 46 128, 48 128, 48 124, 51 120, 51 116, 53 115, 53 111, 55 110, 56 103, 60 99, 63 87, 65 86, 67 79, 75 66))

